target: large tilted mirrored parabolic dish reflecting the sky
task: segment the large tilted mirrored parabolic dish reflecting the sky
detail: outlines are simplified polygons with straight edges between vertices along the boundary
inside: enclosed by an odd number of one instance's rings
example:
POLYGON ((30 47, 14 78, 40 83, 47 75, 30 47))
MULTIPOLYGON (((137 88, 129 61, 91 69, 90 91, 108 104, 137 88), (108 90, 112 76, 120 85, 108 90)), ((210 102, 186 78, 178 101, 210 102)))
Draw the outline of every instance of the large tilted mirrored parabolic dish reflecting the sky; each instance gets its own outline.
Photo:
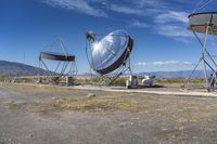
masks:
POLYGON ((86 52, 93 70, 104 76, 125 66, 132 51, 133 40, 125 30, 115 30, 98 38, 97 34, 87 32, 86 52))

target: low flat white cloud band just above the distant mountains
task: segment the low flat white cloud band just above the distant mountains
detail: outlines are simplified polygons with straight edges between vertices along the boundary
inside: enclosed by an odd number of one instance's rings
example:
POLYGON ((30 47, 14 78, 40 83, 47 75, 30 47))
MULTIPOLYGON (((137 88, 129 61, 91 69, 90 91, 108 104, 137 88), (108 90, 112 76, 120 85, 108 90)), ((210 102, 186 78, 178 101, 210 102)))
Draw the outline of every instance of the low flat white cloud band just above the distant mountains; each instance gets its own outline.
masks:
POLYGON ((138 66, 192 66, 191 62, 180 62, 180 61, 156 61, 156 62, 138 62, 138 66))

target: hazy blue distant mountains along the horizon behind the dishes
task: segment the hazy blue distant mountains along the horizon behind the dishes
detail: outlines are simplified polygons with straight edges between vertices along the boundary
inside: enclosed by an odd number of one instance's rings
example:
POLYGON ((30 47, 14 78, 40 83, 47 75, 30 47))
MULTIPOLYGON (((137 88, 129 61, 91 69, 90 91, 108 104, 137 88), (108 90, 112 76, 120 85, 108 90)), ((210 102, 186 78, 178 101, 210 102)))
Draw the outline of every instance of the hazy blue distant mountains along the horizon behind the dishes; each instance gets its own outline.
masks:
MULTIPOLYGON (((0 76, 37 76, 38 74, 43 74, 46 70, 40 69, 35 66, 25 65, 22 63, 0 61, 0 76)), ((50 73, 51 74, 51 73, 50 73)), ((156 78, 187 78, 191 74, 191 70, 180 70, 180 71, 153 71, 153 73, 137 73, 137 76, 156 76, 156 78)), ((208 74, 209 75, 209 74, 208 74)), ((84 76, 89 76, 89 74, 84 74, 84 76)), ((202 78, 204 77, 203 70, 196 70, 193 77, 202 78)))

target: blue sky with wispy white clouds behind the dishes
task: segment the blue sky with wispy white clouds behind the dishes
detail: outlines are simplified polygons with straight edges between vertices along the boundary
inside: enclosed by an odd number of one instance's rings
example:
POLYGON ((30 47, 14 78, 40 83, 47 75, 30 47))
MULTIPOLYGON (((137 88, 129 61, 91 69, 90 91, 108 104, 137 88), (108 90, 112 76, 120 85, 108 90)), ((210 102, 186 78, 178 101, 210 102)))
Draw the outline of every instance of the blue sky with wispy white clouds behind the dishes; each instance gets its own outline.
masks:
MULTIPOLYGON (((191 69, 201 49, 186 27, 188 15, 197 2, 1 0, 0 60, 23 63, 25 54, 26 64, 38 66, 39 52, 50 50, 46 45, 62 38, 67 51, 77 56, 79 73, 86 73, 89 65, 85 55, 85 32, 108 34, 125 29, 135 39, 131 54, 135 71, 191 69)), ((212 53, 216 52, 212 44, 212 53)))

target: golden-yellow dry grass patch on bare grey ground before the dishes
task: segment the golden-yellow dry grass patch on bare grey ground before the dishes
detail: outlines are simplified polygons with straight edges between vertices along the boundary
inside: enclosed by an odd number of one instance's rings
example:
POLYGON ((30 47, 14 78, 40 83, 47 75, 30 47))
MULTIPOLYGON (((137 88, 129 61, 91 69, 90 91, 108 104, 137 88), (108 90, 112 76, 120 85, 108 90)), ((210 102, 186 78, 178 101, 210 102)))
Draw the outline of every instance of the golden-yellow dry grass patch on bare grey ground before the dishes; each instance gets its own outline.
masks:
POLYGON ((135 100, 123 97, 82 97, 82 99, 55 99, 43 103, 30 104, 30 109, 36 113, 77 110, 91 113, 105 113, 115 110, 138 112, 139 103, 135 100))

